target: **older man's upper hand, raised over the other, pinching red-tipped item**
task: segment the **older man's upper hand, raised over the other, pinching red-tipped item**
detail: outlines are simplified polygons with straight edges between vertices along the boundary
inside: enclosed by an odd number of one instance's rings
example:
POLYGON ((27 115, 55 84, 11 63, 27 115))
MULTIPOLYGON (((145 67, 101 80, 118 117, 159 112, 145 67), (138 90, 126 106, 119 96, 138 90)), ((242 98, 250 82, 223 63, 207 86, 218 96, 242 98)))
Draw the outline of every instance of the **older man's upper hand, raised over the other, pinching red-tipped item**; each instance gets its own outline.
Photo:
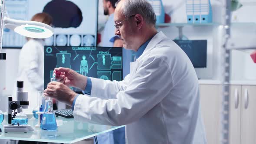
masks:
POLYGON ((58 82, 62 82, 68 87, 75 87, 84 90, 87 84, 87 77, 80 75, 69 68, 55 68, 56 79, 58 82))

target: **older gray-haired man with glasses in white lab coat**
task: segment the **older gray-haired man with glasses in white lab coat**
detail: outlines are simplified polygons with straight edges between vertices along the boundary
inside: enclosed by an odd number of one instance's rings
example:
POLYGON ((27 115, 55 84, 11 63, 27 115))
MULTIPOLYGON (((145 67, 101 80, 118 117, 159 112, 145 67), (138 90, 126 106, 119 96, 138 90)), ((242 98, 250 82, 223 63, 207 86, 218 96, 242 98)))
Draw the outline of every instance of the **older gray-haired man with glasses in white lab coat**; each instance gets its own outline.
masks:
POLYGON ((130 74, 111 82, 56 68, 59 82, 50 82, 44 94, 71 105, 76 121, 125 125, 128 144, 206 144, 195 69, 176 43, 157 32, 151 4, 120 0, 114 20, 124 48, 136 52, 130 74))

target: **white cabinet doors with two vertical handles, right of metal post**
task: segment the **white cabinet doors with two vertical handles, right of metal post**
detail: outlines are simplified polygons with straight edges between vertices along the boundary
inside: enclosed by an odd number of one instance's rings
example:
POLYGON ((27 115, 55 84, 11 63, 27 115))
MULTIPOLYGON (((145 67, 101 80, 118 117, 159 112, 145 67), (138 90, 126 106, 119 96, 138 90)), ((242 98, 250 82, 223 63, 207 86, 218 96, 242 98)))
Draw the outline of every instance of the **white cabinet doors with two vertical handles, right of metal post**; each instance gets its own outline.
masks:
POLYGON ((256 86, 230 88, 230 144, 256 144, 256 86))

